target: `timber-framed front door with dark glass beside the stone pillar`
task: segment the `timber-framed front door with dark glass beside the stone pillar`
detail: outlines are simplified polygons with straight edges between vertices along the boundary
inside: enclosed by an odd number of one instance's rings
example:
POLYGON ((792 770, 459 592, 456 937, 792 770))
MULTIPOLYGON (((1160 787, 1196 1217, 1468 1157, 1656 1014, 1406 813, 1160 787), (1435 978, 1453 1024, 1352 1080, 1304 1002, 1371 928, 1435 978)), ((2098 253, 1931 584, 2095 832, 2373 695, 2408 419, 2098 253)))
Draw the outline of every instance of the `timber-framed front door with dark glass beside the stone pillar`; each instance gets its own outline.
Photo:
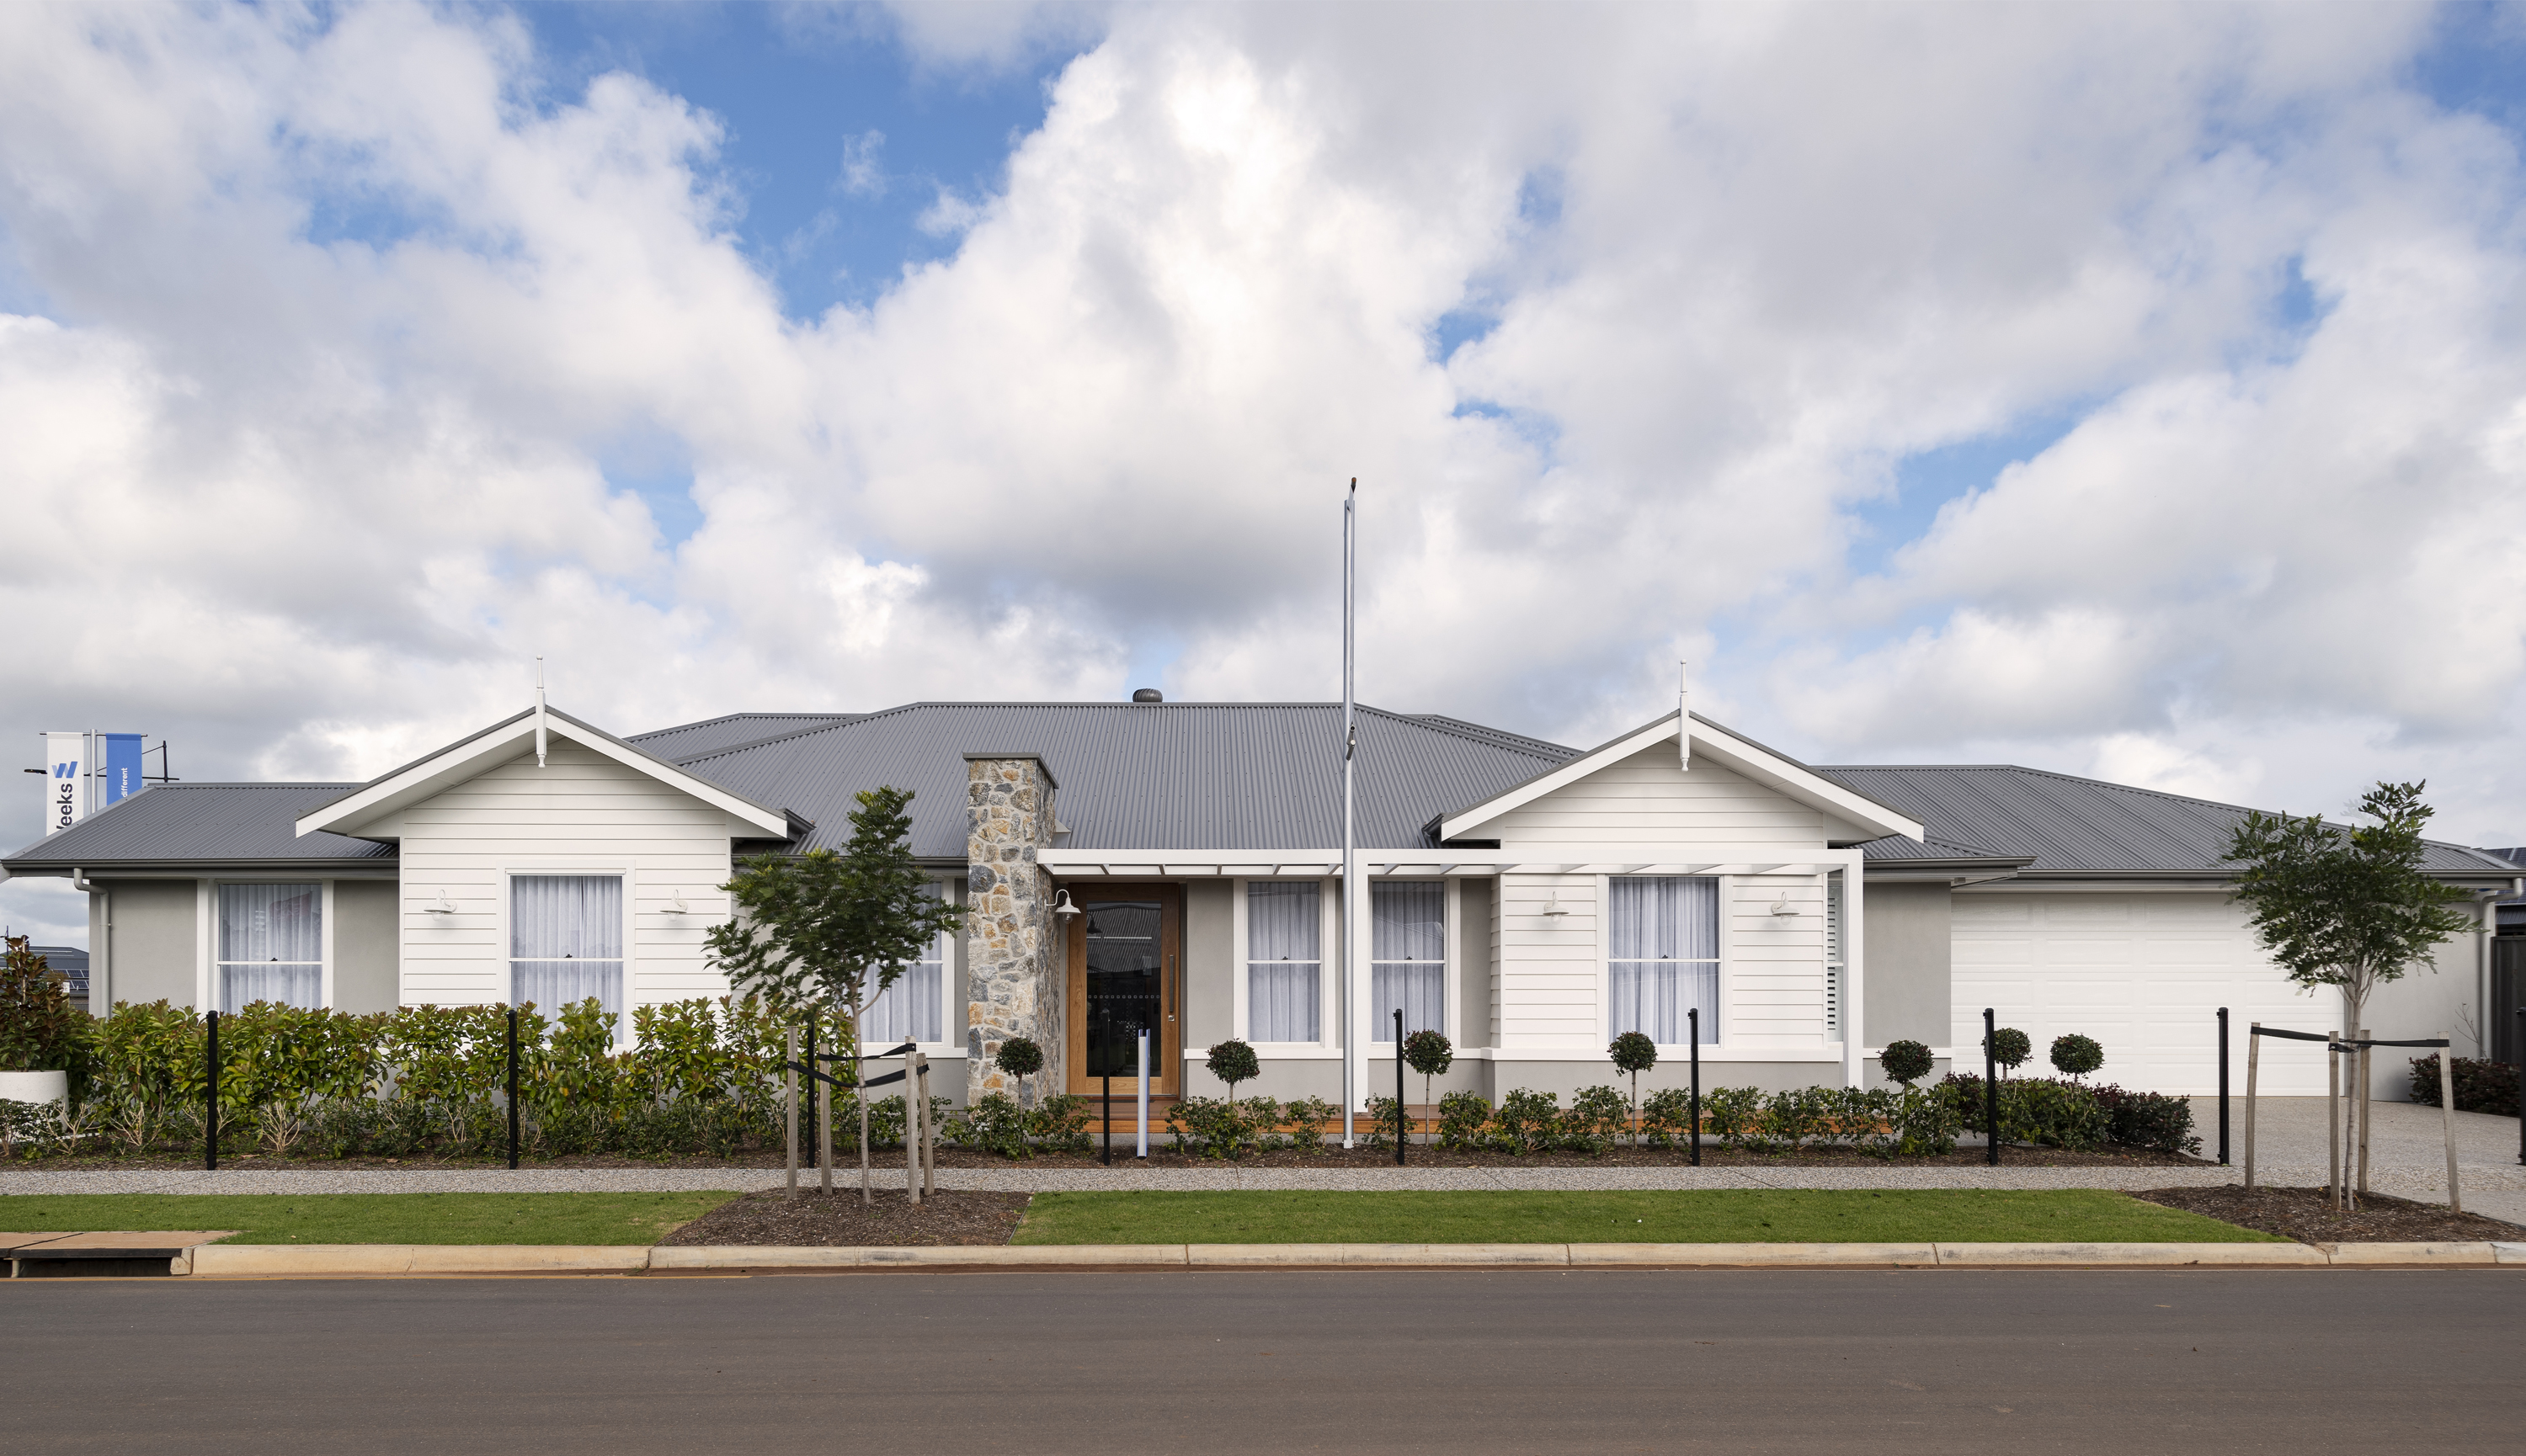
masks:
POLYGON ((1071 888, 1071 1090, 1094 1093, 1106 1072, 1114 1095, 1139 1075, 1149 1032, 1149 1093, 1175 1095, 1182 1037, 1185 891, 1177 886, 1071 888))

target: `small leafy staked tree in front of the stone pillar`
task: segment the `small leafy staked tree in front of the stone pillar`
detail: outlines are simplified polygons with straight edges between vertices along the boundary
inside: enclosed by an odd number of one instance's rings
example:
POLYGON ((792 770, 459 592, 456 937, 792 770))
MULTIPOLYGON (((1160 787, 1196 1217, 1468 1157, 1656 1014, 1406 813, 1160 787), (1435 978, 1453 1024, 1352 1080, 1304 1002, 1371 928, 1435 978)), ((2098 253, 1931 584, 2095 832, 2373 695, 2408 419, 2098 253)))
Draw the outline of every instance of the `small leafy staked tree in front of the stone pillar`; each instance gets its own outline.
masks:
MULTIPOLYGON (((864 790, 851 810, 851 843, 803 855, 753 855, 720 886, 738 913, 710 929, 710 964, 733 987, 788 1012, 844 1007, 851 1085, 859 1075, 859 1022, 904 966, 965 921, 965 906, 932 893, 912 860, 907 790, 864 790)), ((907 1088, 909 1098, 909 1088, 907 1088)), ((869 1191, 869 1098, 859 1103, 859 1199, 869 1191)), ((907 1103, 909 1105, 909 1103, 907 1103)))

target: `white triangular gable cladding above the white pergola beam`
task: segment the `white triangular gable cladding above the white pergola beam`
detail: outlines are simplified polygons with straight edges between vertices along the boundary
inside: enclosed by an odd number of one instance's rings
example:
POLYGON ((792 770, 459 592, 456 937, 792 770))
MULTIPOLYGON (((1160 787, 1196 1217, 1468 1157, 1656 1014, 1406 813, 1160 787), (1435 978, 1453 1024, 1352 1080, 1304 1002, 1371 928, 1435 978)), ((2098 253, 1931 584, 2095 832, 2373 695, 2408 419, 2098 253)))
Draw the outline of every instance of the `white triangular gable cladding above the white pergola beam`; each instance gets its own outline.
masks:
POLYGON ((1642 749, 1480 825, 1500 848, 1632 845, 1675 858, 1695 845, 1821 850, 1824 815, 1713 762, 1675 765, 1675 742, 1642 749), (1675 850, 1675 853, 1665 853, 1675 850))

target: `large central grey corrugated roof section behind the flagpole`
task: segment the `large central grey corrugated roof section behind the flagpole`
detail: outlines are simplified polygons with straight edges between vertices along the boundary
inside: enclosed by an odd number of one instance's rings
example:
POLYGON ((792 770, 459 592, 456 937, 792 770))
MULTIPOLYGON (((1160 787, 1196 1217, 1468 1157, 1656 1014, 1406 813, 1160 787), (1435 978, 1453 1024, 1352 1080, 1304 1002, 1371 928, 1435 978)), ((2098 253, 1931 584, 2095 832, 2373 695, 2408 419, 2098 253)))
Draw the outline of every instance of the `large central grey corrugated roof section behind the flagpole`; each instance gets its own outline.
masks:
MULTIPOLYGON (((965 858, 967 752, 1041 754, 1063 848, 1321 850, 1341 843, 1341 704, 925 702, 677 762, 851 835, 851 795, 912 790, 912 853, 965 858)), ((1417 848, 1435 805, 1475 802, 1576 757, 1452 719, 1359 709, 1359 843, 1417 848)))

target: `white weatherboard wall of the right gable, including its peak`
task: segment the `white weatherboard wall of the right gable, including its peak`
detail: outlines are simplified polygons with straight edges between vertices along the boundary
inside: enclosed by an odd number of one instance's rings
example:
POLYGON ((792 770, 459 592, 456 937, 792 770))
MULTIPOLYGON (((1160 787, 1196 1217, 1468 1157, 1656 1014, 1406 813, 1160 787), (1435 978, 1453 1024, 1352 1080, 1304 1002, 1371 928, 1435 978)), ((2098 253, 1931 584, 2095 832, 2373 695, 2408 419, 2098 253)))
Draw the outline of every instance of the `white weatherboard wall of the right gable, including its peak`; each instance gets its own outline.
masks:
POLYGON ((1503 860, 1584 863, 1500 876, 1493 1045, 1601 1057, 1612 1037, 1601 919, 1609 873, 1733 866, 1720 878, 1720 1035, 1705 1057, 1839 1057, 1839 1032, 1826 1024, 1826 881, 1806 868, 1849 858, 1826 848, 1836 830, 1824 813, 1700 757, 1690 772, 1677 767, 1672 739, 1485 823, 1503 860), (1766 863, 1801 868, 1743 873, 1766 863), (1791 913, 1773 913, 1783 901, 1791 913))

